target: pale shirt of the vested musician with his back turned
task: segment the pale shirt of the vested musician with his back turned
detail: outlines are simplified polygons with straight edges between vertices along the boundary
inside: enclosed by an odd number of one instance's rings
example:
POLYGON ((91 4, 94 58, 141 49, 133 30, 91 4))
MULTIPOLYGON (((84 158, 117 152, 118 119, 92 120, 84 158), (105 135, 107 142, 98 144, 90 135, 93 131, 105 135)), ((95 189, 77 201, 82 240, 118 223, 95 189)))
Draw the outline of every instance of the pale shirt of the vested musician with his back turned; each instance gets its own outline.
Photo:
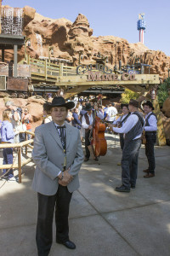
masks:
MULTIPOLYGON (((139 120, 139 117, 136 114, 133 114, 133 112, 132 112, 131 115, 127 118, 124 125, 122 125, 121 128, 113 127, 113 131, 115 131, 117 133, 127 133, 128 131, 130 131, 133 128, 134 125, 136 125, 138 123, 138 120, 139 120)), ((138 136, 134 137, 133 140, 137 139, 141 136, 142 136, 142 132, 138 136)))

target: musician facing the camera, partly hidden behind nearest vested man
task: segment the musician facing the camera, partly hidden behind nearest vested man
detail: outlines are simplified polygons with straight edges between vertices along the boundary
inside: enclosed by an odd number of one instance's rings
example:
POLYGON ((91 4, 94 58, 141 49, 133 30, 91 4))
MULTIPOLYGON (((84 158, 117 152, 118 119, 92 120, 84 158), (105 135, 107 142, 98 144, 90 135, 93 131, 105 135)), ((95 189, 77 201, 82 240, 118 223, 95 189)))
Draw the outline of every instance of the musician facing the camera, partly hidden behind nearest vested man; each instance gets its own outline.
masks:
MULTIPOLYGON (((130 113, 128 110, 128 104, 121 104, 122 108, 122 116, 120 116, 116 121, 113 122, 113 125, 116 125, 116 127, 122 127, 122 125, 127 121, 127 118, 129 117, 130 113)), ((120 133, 120 144, 121 149, 124 146, 124 134, 120 133)))

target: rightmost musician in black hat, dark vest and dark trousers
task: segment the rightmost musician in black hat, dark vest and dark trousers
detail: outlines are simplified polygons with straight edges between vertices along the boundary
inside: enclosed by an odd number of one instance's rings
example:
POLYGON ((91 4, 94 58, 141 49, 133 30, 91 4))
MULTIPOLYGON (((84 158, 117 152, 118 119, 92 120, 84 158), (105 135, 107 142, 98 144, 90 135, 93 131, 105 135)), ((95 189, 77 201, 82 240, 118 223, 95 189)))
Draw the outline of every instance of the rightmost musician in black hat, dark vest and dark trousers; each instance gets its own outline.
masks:
POLYGON ((143 172, 146 172, 144 177, 154 177, 156 168, 154 145, 156 143, 157 119, 156 114, 152 112, 154 107, 150 101, 144 102, 142 106, 144 107, 144 113, 146 113, 144 125, 146 138, 145 154, 149 164, 149 167, 143 172))

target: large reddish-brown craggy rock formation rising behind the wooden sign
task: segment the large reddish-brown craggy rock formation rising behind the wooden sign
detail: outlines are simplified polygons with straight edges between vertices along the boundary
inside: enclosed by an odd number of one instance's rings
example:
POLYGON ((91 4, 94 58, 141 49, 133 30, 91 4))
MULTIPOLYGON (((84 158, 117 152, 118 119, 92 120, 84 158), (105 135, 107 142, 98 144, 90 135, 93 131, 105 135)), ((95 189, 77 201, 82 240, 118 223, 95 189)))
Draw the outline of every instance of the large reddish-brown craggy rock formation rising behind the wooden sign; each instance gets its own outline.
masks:
MULTIPOLYGON (((26 6, 23 9, 23 34, 30 38, 31 46, 26 47, 27 54, 37 58, 49 55, 53 47, 54 57, 73 61, 77 66, 80 62, 95 62, 96 55, 106 59, 109 67, 133 64, 139 60, 150 64, 150 73, 159 73, 160 78, 167 78, 170 57, 162 51, 150 50, 144 44, 129 44, 126 39, 114 36, 94 37, 88 19, 79 14, 74 23, 70 20, 49 19, 36 13, 35 9, 26 6)), ((24 57, 25 47, 19 52, 19 61, 24 57)), ((11 58, 13 51, 8 51, 6 60, 11 58)), ((146 71, 147 72, 147 71, 146 71)))

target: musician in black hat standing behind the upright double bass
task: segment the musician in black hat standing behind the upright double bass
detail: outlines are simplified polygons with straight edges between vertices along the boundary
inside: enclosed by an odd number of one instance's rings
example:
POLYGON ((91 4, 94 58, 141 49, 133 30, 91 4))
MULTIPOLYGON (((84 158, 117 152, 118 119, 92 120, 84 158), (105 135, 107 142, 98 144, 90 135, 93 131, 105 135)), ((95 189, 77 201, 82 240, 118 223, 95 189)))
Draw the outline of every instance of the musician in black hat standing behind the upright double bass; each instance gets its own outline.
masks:
MULTIPOLYGON (((86 108, 84 108, 85 111, 87 111, 87 113, 85 113, 82 116, 82 127, 85 129, 85 158, 84 161, 87 162, 89 160, 90 157, 90 151, 88 149, 88 146, 90 145, 90 134, 92 133, 93 135, 93 124, 94 124, 94 115, 96 113, 96 115, 100 118, 100 119, 104 119, 104 114, 102 113, 102 111, 99 110, 99 108, 97 106, 94 106, 94 110, 92 109, 92 105, 90 103, 86 104, 86 108)), ((95 158, 95 160, 98 160, 97 158, 95 158)))

